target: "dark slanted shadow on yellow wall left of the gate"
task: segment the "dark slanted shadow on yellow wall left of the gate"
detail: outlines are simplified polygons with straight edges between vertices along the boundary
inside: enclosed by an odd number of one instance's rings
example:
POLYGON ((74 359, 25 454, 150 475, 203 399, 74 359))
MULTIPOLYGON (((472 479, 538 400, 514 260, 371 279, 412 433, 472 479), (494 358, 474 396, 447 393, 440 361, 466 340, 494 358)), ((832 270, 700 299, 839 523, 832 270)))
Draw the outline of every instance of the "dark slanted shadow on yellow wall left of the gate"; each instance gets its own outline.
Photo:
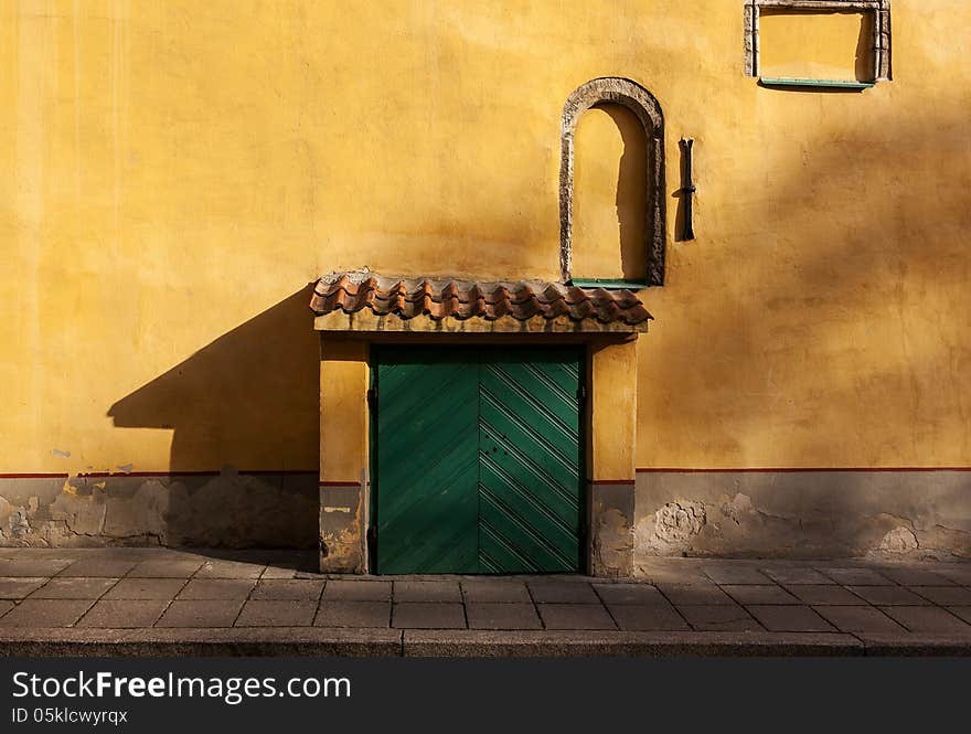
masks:
POLYGON ((120 427, 172 429, 173 472, 228 464, 316 475, 319 341, 311 290, 301 288, 203 347, 108 415, 120 427))

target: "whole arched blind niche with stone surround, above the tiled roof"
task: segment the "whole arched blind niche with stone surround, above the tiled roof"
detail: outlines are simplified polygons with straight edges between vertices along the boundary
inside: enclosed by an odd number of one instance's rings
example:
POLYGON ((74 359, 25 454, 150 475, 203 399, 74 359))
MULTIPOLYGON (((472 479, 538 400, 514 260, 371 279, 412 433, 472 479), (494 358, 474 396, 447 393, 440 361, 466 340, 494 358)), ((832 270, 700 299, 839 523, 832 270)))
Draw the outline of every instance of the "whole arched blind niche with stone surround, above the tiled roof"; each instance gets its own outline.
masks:
POLYGON ((636 82, 620 77, 593 79, 570 94, 563 109, 559 171, 559 265, 564 281, 576 278, 663 285, 663 192, 664 121, 658 100, 636 82), (584 119, 578 135, 580 120, 587 115, 590 118, 584 119), (580 202, 577 217, 577 142, 587 139, 600 145, 601 150, 613 149, 620 155, 606 156, 602 161, 586 157, 580 160, 587 163, 580 171, 580 183, 589 184, 591 193, 580 202), (608 177, 613 178, 609 190, 602 185, 608 177), (610 196, 611 202, 606 202, 605 196, 610 196), (583 237, 602 235, 608 203, 612 203, 611 215, 616 220, 612 237, 599 242, 589 257, 585 252, 575 258, 574 247, 586 244, 583 237), (604 246, 613 252, 606 252, 604 246), (575 270, 575 260, 581 260, 593 272, 575 270), (605 268, 611 267, 616 268, 613 277, 606 275, 605 268))

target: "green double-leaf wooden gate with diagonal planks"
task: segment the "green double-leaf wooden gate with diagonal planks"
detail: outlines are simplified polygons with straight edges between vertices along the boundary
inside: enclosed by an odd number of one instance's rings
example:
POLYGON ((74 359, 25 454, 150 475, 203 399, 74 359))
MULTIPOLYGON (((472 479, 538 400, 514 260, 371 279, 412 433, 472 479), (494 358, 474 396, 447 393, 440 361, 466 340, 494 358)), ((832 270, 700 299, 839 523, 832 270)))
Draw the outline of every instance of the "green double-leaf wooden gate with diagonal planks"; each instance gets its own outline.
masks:
POLYGON ((375 347, 374 568, 583 567, 583 352, 375 347))

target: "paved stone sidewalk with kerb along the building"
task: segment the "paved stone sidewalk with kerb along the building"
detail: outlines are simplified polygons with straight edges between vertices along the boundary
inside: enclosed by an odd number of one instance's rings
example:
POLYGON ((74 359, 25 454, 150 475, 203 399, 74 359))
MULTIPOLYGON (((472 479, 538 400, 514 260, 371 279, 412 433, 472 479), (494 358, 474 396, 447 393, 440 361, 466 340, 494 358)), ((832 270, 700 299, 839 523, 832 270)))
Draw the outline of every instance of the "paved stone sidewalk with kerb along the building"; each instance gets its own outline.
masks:
POLYGON ((3 656, 971 655, 971 563, 346 577, 311 553, 0 549, 3 656))

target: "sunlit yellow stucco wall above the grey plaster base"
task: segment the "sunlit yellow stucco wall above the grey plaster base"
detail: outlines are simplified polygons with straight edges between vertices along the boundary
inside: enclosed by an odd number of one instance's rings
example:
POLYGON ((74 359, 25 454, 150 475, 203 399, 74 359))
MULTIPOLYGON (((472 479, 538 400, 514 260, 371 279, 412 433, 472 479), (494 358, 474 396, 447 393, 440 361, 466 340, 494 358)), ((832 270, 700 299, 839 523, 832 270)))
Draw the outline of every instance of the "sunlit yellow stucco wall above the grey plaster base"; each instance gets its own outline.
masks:
POLYGON ((820 94, 743 75, 740 0, 2 3, 0 472, 313 469, 307 281, 556 278, 598 76, 666 121, 637 465, 971 464, 971 6, 893 11, 894 81, 820 94))

